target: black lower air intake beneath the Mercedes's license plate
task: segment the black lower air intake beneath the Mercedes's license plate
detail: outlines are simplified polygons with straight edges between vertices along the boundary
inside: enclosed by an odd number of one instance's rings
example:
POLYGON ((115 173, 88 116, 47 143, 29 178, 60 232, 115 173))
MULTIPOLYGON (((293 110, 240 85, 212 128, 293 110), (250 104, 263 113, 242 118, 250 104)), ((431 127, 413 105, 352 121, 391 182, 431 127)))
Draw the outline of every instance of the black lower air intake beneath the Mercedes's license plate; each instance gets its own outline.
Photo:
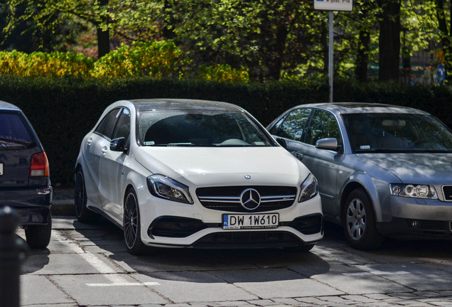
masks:
POLYGON ((303 244, 290 232, 218 232, 199 239, 193 247, 210 248, 252 248, 252 247, 293 247, 303 244))

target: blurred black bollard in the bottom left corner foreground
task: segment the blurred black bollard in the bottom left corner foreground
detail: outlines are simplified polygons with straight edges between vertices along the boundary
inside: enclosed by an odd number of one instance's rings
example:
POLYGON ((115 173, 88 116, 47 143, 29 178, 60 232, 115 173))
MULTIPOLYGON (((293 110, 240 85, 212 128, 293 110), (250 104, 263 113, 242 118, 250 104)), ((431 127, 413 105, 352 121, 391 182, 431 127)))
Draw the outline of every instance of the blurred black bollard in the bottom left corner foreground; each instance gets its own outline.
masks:
POLYGON ((16 235, 19 217, 9 207, 0 208, 0 306, 19 307, 19 276, 28 247, 16 235))

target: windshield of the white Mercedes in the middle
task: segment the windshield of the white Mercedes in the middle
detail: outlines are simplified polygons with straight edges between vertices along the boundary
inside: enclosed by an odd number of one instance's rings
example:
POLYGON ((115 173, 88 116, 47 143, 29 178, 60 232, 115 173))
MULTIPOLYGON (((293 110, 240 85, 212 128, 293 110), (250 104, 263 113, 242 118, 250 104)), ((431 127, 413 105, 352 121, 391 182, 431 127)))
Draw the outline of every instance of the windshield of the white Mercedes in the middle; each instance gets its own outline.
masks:
POLYGON ((271 139, 241 112, 143 112, 139 118, 143 146, 273 146, 271 139))

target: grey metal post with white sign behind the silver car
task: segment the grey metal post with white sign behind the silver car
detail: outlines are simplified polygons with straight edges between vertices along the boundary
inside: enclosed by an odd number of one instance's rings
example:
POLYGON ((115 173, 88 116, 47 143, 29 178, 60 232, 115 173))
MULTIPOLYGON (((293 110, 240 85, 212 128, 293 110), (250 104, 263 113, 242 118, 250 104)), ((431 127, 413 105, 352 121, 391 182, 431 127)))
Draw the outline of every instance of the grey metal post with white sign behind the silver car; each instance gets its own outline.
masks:
POLYGON ((330 29, 328 38, 328 76, 330 78, 330 102, 333 102, 333 51, 334 51, 334 15, 333 11, 352 11, 353 0, 314 0, 314 9, 330 11, 330 29))

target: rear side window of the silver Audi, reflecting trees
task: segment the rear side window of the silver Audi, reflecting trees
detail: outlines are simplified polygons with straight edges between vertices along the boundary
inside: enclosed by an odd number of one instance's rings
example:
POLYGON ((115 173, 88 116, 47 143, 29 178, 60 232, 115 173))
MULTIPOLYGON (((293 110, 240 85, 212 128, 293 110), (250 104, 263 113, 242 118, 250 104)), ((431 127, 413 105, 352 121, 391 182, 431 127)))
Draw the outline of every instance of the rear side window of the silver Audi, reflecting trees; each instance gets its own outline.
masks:
POLYGON ((286 139, 293 139, 294 141, 303 141, 306 122, 308 122, 310 114, 311 109, 294 109, 284 119, 284 122, 279 122, 275 125, 275 127, 278 126, 278 129, 273 131, 274 127, 270 133, 286 139))

